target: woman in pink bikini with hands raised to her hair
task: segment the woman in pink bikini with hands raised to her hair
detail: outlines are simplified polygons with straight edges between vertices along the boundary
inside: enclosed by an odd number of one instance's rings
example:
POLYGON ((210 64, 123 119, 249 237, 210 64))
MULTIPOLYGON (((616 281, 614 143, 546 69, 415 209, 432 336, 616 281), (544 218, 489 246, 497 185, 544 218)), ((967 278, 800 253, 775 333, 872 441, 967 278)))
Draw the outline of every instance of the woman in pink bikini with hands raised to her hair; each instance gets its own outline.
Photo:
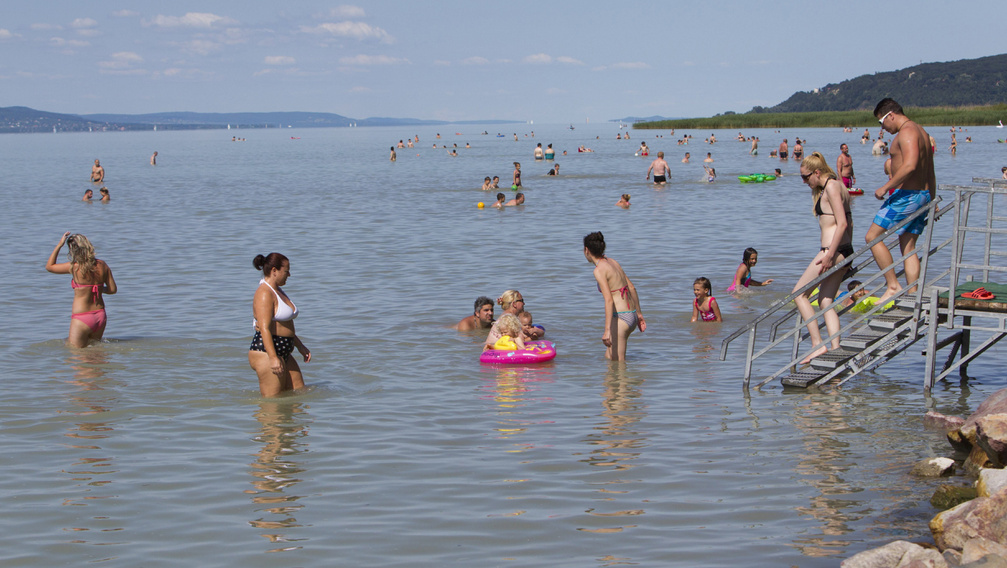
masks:
POLYGON ((63 233, 59 244, 52 249, 45 270, 53 274, 69 274, 74 289, 74 307, 69 316, 69 335, 66 340, 75 347, 86 347, 92 339, 101 340, 108 321, 102 294, 115 294, 116 281, 112 269, 105 261, 95 258, 95 247, 84 235, 63 233), (69 262, 56 264, 63 244, 68 248, 69 262))

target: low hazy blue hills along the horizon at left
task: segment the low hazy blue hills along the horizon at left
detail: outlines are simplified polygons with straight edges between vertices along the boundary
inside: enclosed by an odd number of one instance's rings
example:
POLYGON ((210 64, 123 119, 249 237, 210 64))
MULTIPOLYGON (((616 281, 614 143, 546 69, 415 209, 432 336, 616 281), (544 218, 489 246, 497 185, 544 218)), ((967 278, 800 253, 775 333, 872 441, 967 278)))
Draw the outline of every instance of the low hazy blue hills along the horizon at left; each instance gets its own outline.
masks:
POLYGON ((63 115, 28 107, 0 108, 0 133, 103 132, 129 130, 199 130, 227 128, 322 128, 346 126, 416 126, 447 124, 512 124, 523 121, 446 122, 409 118, 353 119, 332 113, 153 113, 145 115, 63 115))

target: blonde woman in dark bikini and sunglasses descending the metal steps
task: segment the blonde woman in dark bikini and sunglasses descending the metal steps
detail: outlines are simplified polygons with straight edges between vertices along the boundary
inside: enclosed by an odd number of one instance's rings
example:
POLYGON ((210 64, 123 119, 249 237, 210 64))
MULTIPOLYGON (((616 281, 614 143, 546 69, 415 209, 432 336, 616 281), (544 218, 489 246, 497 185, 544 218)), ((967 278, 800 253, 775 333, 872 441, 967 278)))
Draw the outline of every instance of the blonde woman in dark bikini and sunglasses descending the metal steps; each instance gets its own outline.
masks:
MULTIPOLYGON (((794 287, 795 292, 853 254, 853 217, 850 215, 850 192, 846 186, 838 180, 836 172, 818 152, 812 152, 812 155, 801 162, 801 179, 812 188, 815 217, 819 220, 822 233, 822 248, 798 280, 794 287)), ((828 308, 832 305, 845 275, 846 271, 840 270, 822 281, 819 285, 820 306, 828 308)), ((811 304, 811 294, 812 291, 808 290, 794 300, 798 304, 801 317, 808 321, 808 333, 815 348, 801 362, 802 365, 829 350, 829 347, 822 342, 818 319, 812 317, 815 308, 811 304)), ((836 310, 830 309, 825 312, 825 325, 830 335, 839 331, 839 314, 836 310)), ((832 348, 839 348, 839 337, 832 339, 832 348)))

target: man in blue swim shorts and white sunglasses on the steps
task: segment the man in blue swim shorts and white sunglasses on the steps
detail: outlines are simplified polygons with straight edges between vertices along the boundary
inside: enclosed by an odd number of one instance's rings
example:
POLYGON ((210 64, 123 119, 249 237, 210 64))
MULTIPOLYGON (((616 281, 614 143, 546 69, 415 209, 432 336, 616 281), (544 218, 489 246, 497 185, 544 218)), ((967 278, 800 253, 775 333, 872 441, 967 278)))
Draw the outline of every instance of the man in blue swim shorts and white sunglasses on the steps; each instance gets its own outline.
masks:
MULTIPOLYGON (((882 99, 874 108, 874 117, 881 128, 894 134, 891 141, 891 178, 879 187, 874 196, 884 199, 884 203, 867 231, 866 241, 877 239, 885 231, 895 227, 906 218, 926 207, 937 195, 937 176, 933 174, 933 150, 930 137, 918 124, 902 114, 902 107, 891 99, 882 99)), ((902 256, 916 248, 916 239, 926 227, 926 216, 918 217, 898 231, 898 244, 902 256)), ((878 269, 891 266, 892 258, 888 247, 880 242, 871 248, 878 269)), ((905 259, 905 283, 914 288, 919 278, 919 257, 912 255, 905 259)), ((881 295, 880 303, 901 291, 895 271, 884 273, 887 290, 881 295)))

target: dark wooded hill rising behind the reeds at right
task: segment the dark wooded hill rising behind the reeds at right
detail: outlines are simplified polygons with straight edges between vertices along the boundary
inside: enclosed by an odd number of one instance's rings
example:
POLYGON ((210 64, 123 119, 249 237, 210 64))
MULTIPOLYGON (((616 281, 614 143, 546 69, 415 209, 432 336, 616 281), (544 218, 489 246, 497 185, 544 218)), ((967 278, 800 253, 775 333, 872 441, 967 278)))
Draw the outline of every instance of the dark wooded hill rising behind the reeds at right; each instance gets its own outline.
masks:
POLYGON ((863 75, 811 92, 795 93, 774 107, 755 107, 749 112, 872 111, 885 97, 895 99, 903 107, 1007 103, 1007 54, 863 75))

